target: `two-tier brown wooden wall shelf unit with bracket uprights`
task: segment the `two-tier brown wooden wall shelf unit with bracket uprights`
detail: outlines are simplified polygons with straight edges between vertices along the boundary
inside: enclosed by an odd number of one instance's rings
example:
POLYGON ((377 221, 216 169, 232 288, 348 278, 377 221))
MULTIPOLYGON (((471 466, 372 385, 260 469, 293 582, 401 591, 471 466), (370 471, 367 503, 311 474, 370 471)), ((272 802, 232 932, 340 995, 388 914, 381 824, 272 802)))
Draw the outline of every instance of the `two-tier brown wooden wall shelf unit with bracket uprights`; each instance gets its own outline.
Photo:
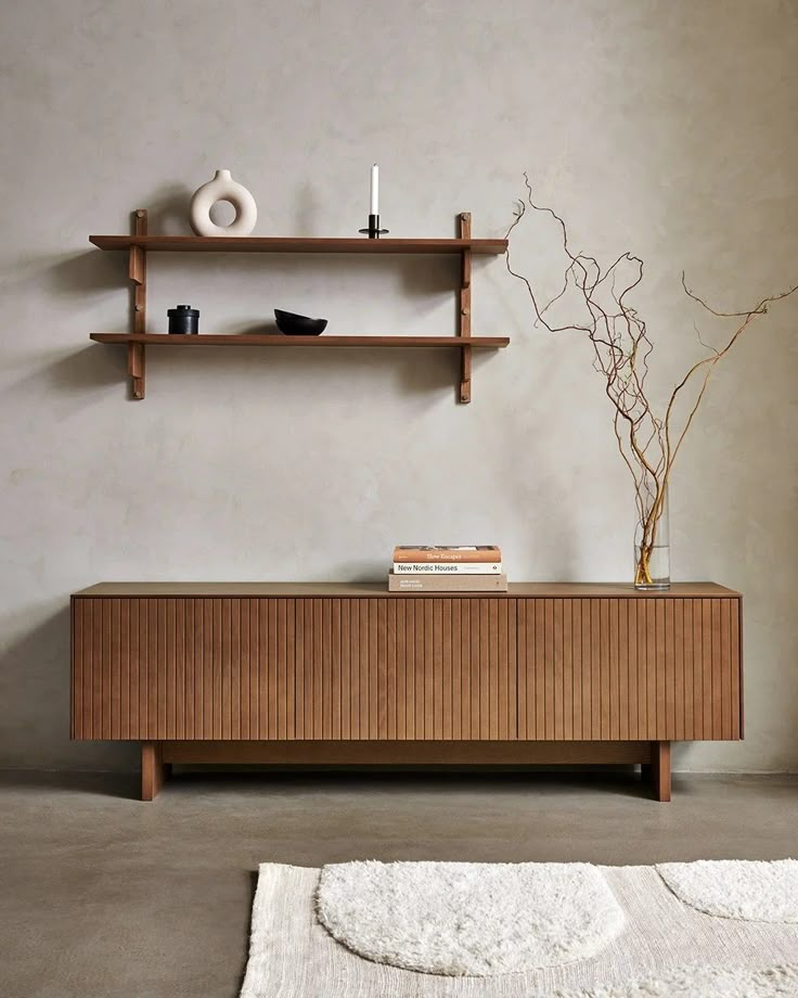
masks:
POLYGON ((128 374, 133 398, 144 398, 145 350, 147 346, 314 346, 314 347, 449 347, 460 350, 461 402, 471 401, 472 349, 501 349, 506 336, 472 336, 471 280, 472 256, 495 256, 505 252, 504 239, 472 239, 471 215, 458 219, 459 239, 294 239, 278 236, 200 236, 149 235, 146 212, 133 213, 131 235, 90 235, 100 250, 128 253, 128 276, 133 284, 131 330, 129 333, 91 333, 96 343, 121 343, 128 350, 128 374), (449 255, 461 259, 458 287, 458 332, 453 336, 283 336, 217 335, 170 336, 146 330, 146 254, 147 253, 358 253, 449 255))

